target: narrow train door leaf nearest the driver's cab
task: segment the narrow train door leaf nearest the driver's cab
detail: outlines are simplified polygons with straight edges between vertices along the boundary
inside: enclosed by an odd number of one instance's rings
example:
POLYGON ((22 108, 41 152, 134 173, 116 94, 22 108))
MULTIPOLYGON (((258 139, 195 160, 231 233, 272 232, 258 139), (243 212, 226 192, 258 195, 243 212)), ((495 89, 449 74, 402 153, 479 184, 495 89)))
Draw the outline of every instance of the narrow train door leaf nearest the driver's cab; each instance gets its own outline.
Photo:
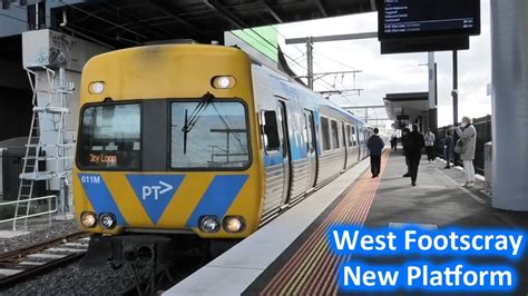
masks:
POLYGON ((281 207, 287 205, 291 187, 291 174, 292 174, 292 152, 290 149, 290 137, 287 132, 287 114, 286 114, 286 103, 278 100, 277 105, 277 125, 281 137, 281 150, 283 158, 283 195, 281 199, 281 207))

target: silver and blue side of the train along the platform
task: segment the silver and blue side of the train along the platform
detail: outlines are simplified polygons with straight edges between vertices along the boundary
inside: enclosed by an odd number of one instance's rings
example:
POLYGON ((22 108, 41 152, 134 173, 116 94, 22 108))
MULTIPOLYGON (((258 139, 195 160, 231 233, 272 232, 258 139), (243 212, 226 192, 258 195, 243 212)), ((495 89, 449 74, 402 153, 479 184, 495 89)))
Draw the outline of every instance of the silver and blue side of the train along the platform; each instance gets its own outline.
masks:
POLYGON ((260 147, 265 182, 262 221, 266 221, 355 165, 362 158, 360 147, 364 144, 359 135, 363 126, 350 112, 290 78, 260 65, 252 66, 252 75, 263 137, 260 147), (281 145, 270 150, 264 127, 266 120, 274 118, 280 126, 281 145))

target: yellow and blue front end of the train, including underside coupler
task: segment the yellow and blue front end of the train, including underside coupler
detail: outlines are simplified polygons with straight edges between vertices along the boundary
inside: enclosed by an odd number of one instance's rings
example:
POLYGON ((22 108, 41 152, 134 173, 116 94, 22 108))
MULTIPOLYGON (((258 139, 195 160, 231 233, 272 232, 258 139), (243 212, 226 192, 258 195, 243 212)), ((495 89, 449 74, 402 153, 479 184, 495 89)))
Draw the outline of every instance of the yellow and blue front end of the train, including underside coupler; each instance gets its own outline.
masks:
POLYGON ((74 193, 82 230, 95 234, 88 255, 134 262, 175 237, 237 239, 257 228, 250 68, 238 49, 196 45, 119 50, 86 65, 74 193))

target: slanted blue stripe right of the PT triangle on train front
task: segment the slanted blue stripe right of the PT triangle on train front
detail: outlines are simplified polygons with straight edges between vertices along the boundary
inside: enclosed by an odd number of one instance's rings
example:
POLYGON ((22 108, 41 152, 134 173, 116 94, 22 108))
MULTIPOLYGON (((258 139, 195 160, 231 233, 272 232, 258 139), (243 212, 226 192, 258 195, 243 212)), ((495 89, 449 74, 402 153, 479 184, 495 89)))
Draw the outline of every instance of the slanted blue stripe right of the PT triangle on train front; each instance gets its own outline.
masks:
POLYGON ((198 219, 204 215, 213 215, 222 219, 246 182, 247 177, 247 175, 216 176, 187 219, 186 226, 198 227, 198 219))

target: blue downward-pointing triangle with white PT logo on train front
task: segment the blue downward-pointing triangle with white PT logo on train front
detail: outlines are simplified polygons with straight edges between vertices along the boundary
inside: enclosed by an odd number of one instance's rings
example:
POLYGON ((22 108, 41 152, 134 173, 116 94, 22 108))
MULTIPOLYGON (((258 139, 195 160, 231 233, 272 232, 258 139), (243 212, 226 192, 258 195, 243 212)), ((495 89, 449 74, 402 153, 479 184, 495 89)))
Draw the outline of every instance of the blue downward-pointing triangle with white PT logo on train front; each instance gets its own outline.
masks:
POLYGON ((127 175, 137 198, 153 224, 157 224, 184 180, 183 175, 127 175))

